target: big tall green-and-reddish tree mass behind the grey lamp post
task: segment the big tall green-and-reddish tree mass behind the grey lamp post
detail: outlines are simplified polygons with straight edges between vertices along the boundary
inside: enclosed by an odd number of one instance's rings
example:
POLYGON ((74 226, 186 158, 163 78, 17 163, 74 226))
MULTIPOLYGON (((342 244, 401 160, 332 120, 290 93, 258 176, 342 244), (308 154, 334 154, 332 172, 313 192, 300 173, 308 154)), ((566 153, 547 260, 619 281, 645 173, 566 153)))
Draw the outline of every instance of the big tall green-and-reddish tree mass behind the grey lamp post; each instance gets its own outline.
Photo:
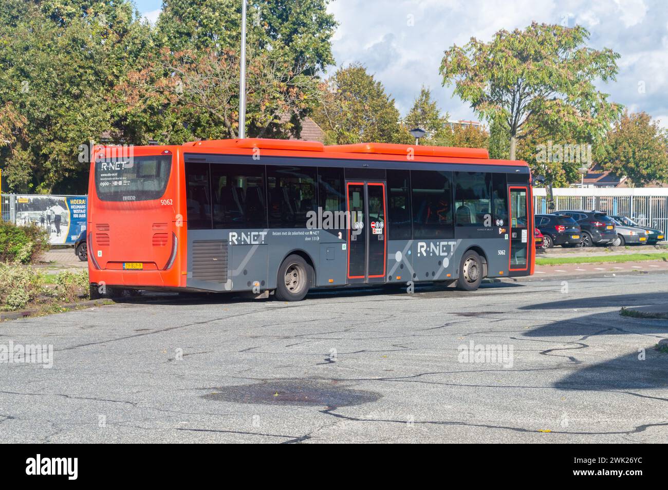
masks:
MULTIPOLYGON (((317 102, 315 74, 333 63, 329 0, 262 0, 248 7, 246 134, 299 136, 317 102)), ((119 85, 136 136, 179 143, 236 138, 241 3, 164 0, 163 49, 119 85), (135 90, 138 93, 133 93, 135 90), (138 95, 140 95, 138 99, 138 95)))

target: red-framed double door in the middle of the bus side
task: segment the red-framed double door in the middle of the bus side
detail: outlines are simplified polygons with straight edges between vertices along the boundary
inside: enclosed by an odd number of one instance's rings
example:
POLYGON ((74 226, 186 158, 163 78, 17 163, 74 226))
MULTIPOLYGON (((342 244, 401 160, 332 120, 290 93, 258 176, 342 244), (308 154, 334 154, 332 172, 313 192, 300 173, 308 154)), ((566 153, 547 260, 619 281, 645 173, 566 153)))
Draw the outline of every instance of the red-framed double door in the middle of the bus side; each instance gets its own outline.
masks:
POLYGON ((346 182, 349 283, 385 282, 387 226, 384 182, 346 182))

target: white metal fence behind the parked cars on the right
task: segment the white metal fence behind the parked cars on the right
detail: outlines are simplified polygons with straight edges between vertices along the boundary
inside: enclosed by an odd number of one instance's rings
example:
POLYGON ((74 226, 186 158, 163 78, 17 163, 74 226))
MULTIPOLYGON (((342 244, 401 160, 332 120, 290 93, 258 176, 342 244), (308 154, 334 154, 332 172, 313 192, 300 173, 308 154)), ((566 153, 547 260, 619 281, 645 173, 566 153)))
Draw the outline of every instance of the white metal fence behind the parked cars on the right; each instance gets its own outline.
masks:
POLYGON ((544 188, 534 188, 534 212, 597 210, 627 216, 641 226, 668 233, 668 188, 559 188, 548 200, 544 188))

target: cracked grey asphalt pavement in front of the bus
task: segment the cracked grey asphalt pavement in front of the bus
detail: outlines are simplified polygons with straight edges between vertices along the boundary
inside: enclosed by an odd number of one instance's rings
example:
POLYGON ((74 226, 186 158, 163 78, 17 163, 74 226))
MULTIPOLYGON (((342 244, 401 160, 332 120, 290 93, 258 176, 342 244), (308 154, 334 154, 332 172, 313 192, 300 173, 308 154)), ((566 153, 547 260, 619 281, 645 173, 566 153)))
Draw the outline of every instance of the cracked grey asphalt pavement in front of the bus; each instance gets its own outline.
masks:
POLYGON ((3 322, 0 344, 51 344, 53 367, 0 364, 2 441, 665 443, 668 320, 619 311, 665 303, 667 278, 155 298, 3 322), (496 345, 503 362, 475 355, 496 345))

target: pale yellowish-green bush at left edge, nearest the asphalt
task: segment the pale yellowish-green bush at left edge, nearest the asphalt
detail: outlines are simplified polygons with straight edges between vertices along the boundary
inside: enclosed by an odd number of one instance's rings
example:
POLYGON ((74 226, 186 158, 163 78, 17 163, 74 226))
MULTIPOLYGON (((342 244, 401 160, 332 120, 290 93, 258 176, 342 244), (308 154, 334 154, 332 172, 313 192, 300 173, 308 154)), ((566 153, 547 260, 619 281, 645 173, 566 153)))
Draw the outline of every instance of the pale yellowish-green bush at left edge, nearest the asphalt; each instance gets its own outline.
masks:
POLYGON ((25 308, 43 294, 44 276, 29 267, 0 263, 0 310, 25 308))

